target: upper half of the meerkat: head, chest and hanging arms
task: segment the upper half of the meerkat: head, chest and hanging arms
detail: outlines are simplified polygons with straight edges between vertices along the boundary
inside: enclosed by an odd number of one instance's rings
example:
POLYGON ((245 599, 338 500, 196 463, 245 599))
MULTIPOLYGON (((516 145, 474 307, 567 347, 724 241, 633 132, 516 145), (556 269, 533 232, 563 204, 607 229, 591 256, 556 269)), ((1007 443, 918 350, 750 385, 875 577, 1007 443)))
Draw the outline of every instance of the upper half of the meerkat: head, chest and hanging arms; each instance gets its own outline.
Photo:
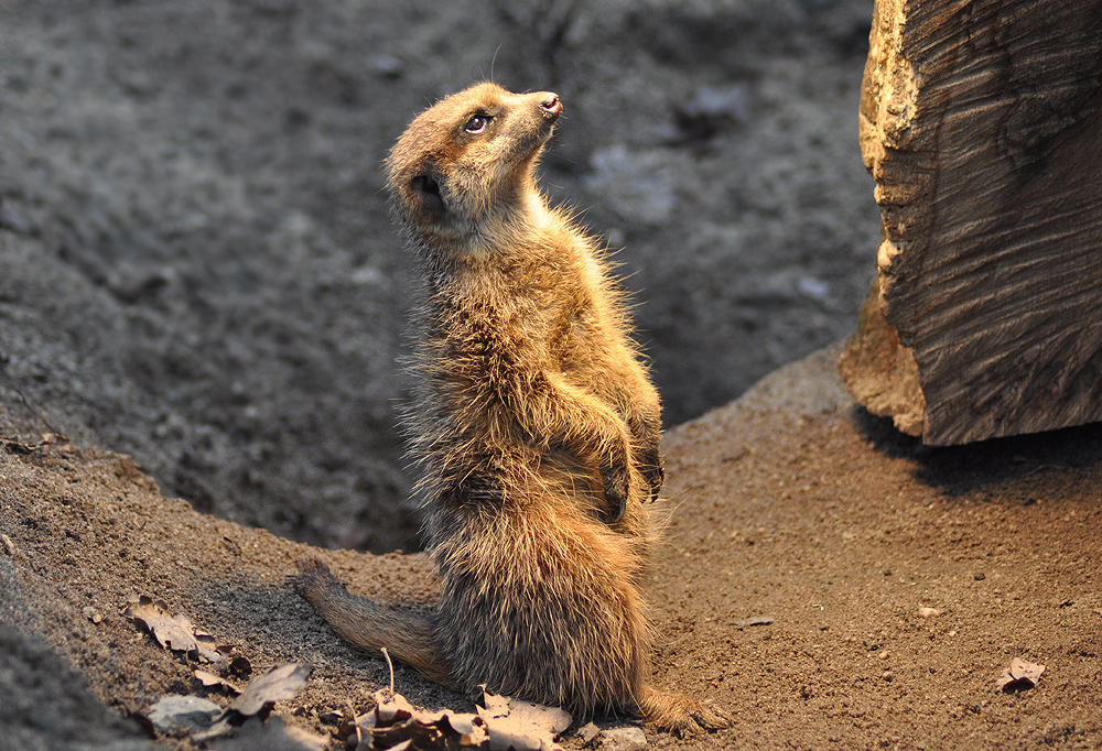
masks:
POLYGON ((415 119, 389 159, 424 282, 407 424, 430 544, 447 527, 437 515, 487 505, 550 501, 618 522, 640 485, 634 449, 660 464, 652 436, 633 446, 633 429, 657 434, 658 398, 601 250, 534 183, 561 109, 551 94, 476 86, 415 119))

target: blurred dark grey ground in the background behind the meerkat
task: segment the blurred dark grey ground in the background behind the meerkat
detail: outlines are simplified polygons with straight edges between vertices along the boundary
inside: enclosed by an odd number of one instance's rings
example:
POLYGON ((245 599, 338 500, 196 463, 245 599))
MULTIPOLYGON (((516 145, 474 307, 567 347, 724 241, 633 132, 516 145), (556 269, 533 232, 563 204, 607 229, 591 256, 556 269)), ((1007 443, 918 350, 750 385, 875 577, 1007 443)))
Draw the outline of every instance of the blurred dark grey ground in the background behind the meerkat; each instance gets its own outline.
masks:
MULTIPOLYGON (((380 161, 493 75, 636 291, 669 425, 847 335, 871 0, 0 0, 0 390, 197 509, 418 546, 380 161)), ((25 413, 25 411, 23 411, 25 413)))

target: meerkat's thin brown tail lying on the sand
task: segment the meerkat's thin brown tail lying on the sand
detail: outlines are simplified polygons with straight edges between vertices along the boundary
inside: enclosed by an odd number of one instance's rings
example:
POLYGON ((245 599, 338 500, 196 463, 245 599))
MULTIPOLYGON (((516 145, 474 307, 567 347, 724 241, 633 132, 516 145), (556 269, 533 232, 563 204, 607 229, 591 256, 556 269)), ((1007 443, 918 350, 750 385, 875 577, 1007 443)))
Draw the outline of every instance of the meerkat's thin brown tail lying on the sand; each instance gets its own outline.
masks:
POLYGON ((366 652, 386 647, 391 656, 430 681, 444 686, 453 684, 433 642, 430 617, 350 594, 316 558, 298 565, 299 590, 338 636, 366 652))

